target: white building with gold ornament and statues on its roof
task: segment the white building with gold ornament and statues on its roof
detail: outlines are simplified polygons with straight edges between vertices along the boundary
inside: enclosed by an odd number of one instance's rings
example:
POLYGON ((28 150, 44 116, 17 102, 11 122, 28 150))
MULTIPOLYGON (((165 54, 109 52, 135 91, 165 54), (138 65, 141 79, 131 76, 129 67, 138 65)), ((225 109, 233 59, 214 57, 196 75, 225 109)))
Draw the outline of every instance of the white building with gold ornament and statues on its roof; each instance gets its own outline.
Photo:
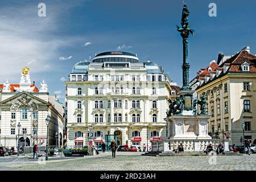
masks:
POLYGON ((0 84, 0 143, 6 147, 46 145, 47 115, 49 146, 63 146, 63 106, 49 96, 46 82, 40 89, 31 84, 29 69, 23 68, 19 84, 0 84), (18 123, 21 127, 18 131, 18 123), (19 135, 19 138, 18 138, 19 135))

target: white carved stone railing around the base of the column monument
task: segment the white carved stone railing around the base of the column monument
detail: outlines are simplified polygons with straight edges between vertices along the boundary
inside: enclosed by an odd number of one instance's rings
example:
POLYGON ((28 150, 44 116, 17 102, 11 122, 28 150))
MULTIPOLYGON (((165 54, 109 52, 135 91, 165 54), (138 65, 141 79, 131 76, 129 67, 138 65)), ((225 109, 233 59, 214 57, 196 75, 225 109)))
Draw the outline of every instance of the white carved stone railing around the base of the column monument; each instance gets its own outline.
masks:
POLYGON ((229 151, 228 139, 163 139, 151 141, 151 146, 152 151, 170 152, 176 150, 182 143, 184 152, 203 152, 210 143, 215 151, 221 142, 224 144, 225 151, 229 151))

